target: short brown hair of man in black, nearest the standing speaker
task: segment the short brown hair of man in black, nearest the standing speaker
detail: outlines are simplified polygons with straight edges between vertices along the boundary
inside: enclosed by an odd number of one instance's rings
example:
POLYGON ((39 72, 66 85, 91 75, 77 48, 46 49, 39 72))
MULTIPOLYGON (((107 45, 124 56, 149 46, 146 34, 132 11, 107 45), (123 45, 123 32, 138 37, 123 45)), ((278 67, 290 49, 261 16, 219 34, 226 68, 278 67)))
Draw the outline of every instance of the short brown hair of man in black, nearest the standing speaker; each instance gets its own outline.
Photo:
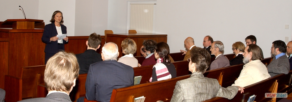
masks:
POLYGON ((87 45, 90 48, 97 48, 98 45, 100 45, 100 42, 101 42, 100 35, 99 34, 96 34, 96 33, 93 33, 93 34, 90 34, 90 36, 88 37, 88 43, 87 43, 87 45))

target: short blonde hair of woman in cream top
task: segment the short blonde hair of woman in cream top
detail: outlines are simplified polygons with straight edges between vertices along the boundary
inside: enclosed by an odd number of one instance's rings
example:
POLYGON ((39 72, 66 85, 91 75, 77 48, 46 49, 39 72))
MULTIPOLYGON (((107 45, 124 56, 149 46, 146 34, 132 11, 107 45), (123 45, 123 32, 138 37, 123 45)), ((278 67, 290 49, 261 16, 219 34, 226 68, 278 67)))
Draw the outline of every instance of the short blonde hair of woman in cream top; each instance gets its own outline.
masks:
POLYGON ((121 47, 125 51, 125 54, 134 54, 137 51, 137 45, 133 39, 125 38, 122 41, 121 47))

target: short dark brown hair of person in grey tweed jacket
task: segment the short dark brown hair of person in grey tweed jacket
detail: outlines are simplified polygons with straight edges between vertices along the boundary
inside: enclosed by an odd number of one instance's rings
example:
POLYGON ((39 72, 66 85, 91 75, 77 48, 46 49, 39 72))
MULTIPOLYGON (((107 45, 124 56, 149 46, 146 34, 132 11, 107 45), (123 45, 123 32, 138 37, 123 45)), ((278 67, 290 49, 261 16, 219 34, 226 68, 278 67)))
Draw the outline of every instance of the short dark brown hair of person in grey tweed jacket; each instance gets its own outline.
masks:
POLYGON ((211 55, 203 48, 195 47, 190 52, 192 63, 195 63, 196 71, 205 73, 209 68, 211 55))

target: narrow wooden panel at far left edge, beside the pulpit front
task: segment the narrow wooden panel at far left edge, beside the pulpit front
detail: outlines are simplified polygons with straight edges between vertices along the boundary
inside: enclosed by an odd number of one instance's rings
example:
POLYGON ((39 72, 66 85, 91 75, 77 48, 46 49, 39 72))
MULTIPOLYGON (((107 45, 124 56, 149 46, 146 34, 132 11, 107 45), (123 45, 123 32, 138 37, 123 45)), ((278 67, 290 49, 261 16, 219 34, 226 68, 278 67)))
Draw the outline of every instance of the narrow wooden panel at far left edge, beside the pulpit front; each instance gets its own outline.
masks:
POLYGON ((8 75, 8 38, 0 38, 0 88, 4 89, 4 76, 8 75))

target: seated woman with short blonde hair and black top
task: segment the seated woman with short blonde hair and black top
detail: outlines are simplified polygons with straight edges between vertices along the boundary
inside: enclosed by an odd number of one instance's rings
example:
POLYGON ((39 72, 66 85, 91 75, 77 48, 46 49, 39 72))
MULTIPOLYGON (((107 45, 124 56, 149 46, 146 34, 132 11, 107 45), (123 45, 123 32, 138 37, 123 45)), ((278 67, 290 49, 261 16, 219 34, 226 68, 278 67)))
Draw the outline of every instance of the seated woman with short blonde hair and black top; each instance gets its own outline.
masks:
POLYGON ((243 64, 243 52, 245 49, 245 45, 238 41, 232 44, 232 51, 236 55, 232 60, 230 60, 230 66, 237 65, 237 64, 243 64))

